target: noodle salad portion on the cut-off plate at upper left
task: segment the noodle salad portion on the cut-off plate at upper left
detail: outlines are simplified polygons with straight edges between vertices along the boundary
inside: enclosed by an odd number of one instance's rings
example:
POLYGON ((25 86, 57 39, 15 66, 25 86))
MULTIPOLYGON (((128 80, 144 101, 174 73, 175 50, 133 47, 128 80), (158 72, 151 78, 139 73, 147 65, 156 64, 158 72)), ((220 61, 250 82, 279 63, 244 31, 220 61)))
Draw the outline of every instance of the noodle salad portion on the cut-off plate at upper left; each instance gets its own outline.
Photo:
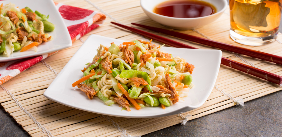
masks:
POLYGON ((42 42, 52 40, 44 31, 53 31, 54 24, 46 16, 29 7, 20 9, 9 3, 0 6, 0 54, 10 56, 14 51, 37 51, 42 42))

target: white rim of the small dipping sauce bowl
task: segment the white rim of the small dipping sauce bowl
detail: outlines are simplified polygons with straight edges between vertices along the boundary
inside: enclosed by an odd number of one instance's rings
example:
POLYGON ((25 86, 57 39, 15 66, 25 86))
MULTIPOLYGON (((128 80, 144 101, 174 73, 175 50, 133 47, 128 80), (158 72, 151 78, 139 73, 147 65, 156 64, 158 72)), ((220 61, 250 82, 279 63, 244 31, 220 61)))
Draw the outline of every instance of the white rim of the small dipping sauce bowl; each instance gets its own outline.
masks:
MULTIPOLYGON (((227 4, 227 1, 226 0, 221 0, 223 1, 224 3, 224 6, 223 8, 216 12, 215 14, 211 14, 211 15, 208 15, 208 16, 203 16, 203 17, 196 17, 196 18, 175 18, 175 17, 168 17, 168 16, 164 16, 164 15, 161 15, 161 14, 156 14, 154 13, 153 11, 150 11, 150 10, 147 10, 144 6, 145 0, 140 0, 140 5, 142 7, 143 10, 146 10, 147 12, 149 12, 150 14, 153 14, 155 16, 159 16, 159 17, 162 17, 162 18, 169 18, 169 19, 175 19, 175 20, 195 20, 195 19, 202 19, 202 18, 209 18, 209 17, 213 17, 213 16, 216 16, 217 14, 222 14, 224 12, 224 10, 227 8, 228 4, 227 4), (142 4, 143 3, 143 4, 142 4)), ((171 1, 171 0, 164 0, 163 2, 165 1, 171 1)), ((200 0, 199 0, 200 1, 200 0)))

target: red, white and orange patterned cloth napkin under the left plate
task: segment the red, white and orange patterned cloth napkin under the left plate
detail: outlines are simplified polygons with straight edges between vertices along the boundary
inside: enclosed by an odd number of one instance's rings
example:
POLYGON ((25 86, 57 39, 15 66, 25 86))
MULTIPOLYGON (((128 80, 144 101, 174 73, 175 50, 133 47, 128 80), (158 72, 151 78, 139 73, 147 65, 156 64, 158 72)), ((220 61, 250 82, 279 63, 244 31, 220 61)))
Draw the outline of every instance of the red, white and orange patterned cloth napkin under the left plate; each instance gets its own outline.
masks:
MULTIPOLYGON (((64 18, 64 23, 68 27, 72 42, 98 26, 101 26, 106 19, 104 14, 97 11, 77 8, 56 2, 55 5, 64 18)), ((9 62, 0 62, 0 85, 57 52, 9 62)))

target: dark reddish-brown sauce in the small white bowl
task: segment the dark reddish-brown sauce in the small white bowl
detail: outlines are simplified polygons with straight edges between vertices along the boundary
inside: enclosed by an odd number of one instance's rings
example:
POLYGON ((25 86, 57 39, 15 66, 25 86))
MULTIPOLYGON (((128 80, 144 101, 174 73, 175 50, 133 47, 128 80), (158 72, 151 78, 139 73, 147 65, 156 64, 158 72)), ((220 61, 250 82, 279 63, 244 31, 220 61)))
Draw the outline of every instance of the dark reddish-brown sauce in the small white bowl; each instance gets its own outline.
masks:
POLYGON ((208 2, 197 0, 171 0, 155 7, 154 13, 175 18, 197 18, 216 13, 216 9, 208 2))

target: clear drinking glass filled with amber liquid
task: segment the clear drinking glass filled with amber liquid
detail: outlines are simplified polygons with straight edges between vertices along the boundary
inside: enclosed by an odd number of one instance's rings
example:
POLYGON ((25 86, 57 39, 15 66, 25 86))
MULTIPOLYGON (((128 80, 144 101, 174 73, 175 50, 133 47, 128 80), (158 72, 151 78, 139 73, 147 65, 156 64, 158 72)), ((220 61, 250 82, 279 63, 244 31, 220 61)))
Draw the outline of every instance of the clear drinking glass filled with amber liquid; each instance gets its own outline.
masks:
POLYGON ((229 0, 230 37, 241 44, 261 46, 275 41, 282 0, 229 0))

